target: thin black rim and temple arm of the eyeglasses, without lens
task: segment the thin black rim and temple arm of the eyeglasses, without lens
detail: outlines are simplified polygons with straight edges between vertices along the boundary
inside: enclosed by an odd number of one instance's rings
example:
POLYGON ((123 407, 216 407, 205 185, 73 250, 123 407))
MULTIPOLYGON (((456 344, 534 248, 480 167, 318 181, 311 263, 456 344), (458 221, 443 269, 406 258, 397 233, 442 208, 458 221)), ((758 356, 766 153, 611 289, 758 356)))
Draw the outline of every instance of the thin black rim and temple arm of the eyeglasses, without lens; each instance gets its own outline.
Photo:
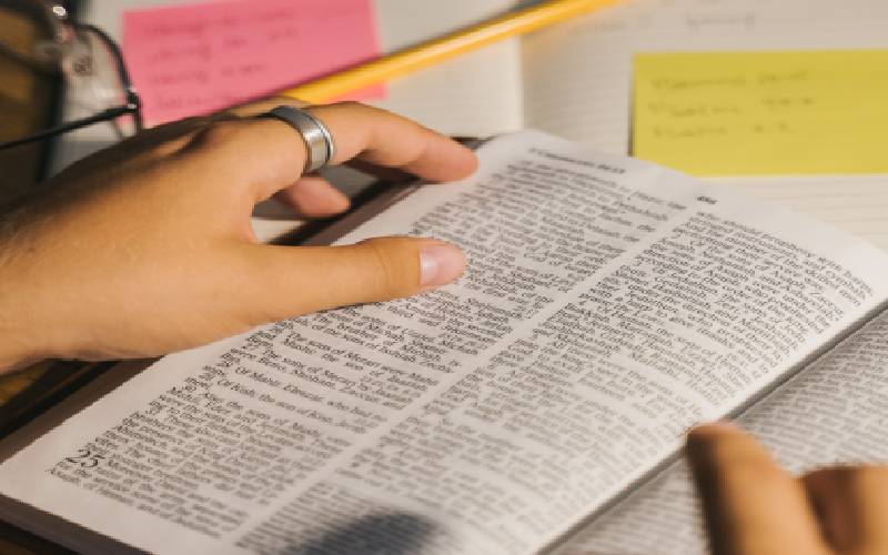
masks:
POLYGON ((78 129, 94 125, 95 123, 113 122, 123 115, 132 117, 137 133, 144 129, 144 121, 142 119, 142 101, 132 84, 129 71, 127 71, 127 64, 123 61, 123 53, 121 52, 120 47, 118 47, 117 42, 114 42, 114 40, 107 32, 93 24, 78 22, 68 22, 68 24, 74 32, 94 34, 97 38, 99 38, 102 46, 108 49, 114 63, 114 69, 117 70, 121 88, 123 89, 123 104, 107 108, 92 115, 67 121, 38 133, 0 143, 0 150, 12 149, 22 144, 51 139, 78 129))

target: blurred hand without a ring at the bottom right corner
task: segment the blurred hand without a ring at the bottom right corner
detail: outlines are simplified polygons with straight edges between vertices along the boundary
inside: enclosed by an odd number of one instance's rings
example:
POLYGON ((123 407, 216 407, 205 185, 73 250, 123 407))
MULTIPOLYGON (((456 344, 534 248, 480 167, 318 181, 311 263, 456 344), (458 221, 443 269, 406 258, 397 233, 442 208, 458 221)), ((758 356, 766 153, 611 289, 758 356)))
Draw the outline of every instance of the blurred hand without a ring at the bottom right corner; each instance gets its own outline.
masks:
POLYGON ((888 553, 888 467, 795 477, 726 423, 693 430, 687 456, 716 555, 888 553))

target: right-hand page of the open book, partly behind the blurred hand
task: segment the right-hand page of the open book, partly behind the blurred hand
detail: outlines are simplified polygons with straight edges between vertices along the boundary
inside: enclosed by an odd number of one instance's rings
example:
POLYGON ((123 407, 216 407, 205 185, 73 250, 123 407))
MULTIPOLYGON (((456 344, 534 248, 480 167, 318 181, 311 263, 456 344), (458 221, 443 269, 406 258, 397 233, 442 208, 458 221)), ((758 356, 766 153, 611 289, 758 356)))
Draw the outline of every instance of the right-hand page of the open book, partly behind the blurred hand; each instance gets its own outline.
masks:
MULTIPOLYGON (((790 472, 888 464, 886 345, 882 313, 747 411, 739 424, 790 472)), ((674 464, 556 553, 708 553, 687 464, 674 464)))

